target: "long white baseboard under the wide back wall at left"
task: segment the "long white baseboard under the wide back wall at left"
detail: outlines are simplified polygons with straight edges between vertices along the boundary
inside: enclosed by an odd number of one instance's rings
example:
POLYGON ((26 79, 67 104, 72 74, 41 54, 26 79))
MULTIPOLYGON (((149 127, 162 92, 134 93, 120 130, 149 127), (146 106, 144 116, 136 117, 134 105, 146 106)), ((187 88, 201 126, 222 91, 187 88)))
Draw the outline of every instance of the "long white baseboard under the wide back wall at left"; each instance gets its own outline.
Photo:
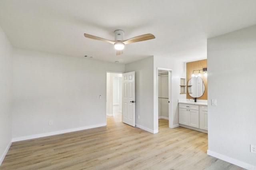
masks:
POLYGON ((104 127, 104 126, 106 126, 106 123, 102 123, 102 124, 98 124, 98 125, 90 125, 90 126, 86 126, 86 127, 79 127, 79 128, 70 128, 70 129, 66 129, 66 130, 59 130, 59 131, 47 132, 47 133, 41 133, 41 134, 33 134, 33 135, 28 135, 28 136, 21 136, 21 137, 12 138, 12 142, 34 139, 34 138, 41 138, 41 137, 45 137, 45 136, 52 136, 52 135, 56 135, 56 134, 75 132, 75 131, 79 131, 79 130, 85 130, 85 129, 96 128, 96 127, 104 127))

